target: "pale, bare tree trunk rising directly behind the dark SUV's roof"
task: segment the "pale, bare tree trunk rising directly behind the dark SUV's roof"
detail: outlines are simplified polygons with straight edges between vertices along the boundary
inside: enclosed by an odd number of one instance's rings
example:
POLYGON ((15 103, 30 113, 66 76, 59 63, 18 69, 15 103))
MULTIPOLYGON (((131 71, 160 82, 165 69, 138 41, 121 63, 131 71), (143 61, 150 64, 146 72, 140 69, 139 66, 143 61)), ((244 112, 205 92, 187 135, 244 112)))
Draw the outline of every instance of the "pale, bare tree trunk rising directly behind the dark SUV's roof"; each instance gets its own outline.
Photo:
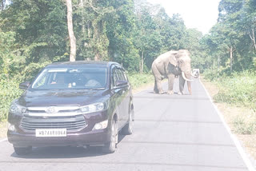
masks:
POLYGON ((74 36, 74 30, 73 30, 72 0, 66 0, 66 8, 67 8, 67 16, 66 16, 67 27, 68 27, 69 36, 70 36, 70 62, 74 62, 77 46, 76 46, 76 38, 74 36))

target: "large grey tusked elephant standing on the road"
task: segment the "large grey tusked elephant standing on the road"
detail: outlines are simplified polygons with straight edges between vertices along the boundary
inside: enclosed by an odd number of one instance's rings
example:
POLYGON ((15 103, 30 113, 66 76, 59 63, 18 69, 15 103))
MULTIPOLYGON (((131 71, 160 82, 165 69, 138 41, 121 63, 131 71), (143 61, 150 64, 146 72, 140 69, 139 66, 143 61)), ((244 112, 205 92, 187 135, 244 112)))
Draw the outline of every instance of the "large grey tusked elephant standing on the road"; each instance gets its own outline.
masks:
POLYGON ((187 87, 191 91, 191 59, 190 52, 188 50, 171 50, 164 54, 161 54, 152 63, 152 72, 154 74, 154 93, 164 93, 162 90, 162 79, 168 78, 168 91, 167 93, 174 93, 174 78, 179 76, 179 90, 183 94, 185 82, 187 81, 187 87))

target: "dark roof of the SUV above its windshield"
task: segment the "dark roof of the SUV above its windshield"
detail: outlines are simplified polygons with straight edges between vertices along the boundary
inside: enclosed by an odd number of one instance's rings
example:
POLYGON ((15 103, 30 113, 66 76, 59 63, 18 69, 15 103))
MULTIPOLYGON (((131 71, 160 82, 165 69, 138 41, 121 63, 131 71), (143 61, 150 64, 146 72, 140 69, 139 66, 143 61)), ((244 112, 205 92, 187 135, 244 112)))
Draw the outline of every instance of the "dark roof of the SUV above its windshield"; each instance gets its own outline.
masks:
POLYGON ((54 63, 46 66, 46 68, 61 68, 61 67, 69 67, 69 66, 72 66, 72 67, 87 66, 87 67, 102 67, 102 68, 106 68, 106 67, 112 66, 113 64, 121 66, 117 62, 76 61, 76 62, 54 62, 54 63))

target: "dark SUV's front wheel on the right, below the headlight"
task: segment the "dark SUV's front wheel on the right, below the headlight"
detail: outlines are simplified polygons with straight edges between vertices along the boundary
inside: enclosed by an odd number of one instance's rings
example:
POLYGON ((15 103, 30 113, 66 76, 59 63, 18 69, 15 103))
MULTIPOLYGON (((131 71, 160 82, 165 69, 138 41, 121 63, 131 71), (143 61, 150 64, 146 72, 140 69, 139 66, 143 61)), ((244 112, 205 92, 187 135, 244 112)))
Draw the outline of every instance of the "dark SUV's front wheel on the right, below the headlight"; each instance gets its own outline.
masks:
POLYGON ((110 142, 106 143, 102 147, 103 153, 114 153, 116 147, 118 144, 118 126, 116 121, 113 121, 111 125, 111 136, 110 136, 110 142))

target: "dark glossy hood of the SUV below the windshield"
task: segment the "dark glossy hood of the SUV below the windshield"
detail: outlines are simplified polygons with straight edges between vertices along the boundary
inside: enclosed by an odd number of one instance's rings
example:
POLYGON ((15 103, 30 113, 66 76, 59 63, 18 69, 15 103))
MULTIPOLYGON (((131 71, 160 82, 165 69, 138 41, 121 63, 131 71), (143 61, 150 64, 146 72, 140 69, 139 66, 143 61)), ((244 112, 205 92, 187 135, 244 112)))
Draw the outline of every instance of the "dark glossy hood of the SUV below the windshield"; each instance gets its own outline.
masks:
POLYGON ((58 105, 88 105, 106 101, 108 90, 63 89, 63 90, 26 90, 18 99, 19 105, 58 106, 58 105))

